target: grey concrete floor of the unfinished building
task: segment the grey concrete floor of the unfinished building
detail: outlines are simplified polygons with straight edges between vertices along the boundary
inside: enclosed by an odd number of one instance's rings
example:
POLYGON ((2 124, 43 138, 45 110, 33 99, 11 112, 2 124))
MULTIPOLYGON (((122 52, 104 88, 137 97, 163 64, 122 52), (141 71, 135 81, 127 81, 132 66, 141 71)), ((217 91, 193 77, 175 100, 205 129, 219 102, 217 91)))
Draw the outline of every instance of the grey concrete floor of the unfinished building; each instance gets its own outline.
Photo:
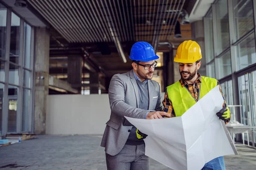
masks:
MULTIPOLYGON (((1 170, 106 170, 102 136, 35 136, 0 147, 1 170)), ((256 170, 256 150, 237 146, 239 155, 225 156, 227 170, 256 170)), ((150 170, 170 170, 150 160, 150 170)))

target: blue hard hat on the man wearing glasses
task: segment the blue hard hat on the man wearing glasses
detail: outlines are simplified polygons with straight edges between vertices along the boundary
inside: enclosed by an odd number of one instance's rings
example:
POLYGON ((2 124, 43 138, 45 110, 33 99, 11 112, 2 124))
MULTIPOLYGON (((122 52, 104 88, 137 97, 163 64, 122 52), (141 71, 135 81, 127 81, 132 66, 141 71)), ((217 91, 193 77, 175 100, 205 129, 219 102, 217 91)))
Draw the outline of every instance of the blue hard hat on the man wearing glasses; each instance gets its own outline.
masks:
POLYGON ((152 45, 145 41, 139 41, 132 45, 129 58, 136 61, 151 61, 159 59, 155 54, 152 45))

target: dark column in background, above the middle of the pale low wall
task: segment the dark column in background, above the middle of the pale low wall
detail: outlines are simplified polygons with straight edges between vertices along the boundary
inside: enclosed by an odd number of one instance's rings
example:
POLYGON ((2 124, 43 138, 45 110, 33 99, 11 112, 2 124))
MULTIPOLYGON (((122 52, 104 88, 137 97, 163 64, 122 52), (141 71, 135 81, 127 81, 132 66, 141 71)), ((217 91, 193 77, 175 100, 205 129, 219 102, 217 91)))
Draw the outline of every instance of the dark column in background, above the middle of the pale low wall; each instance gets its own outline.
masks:
POLYGON ((83 58, 72 56, 67 59, 67 82, 74 88, 81 91, 83 58))

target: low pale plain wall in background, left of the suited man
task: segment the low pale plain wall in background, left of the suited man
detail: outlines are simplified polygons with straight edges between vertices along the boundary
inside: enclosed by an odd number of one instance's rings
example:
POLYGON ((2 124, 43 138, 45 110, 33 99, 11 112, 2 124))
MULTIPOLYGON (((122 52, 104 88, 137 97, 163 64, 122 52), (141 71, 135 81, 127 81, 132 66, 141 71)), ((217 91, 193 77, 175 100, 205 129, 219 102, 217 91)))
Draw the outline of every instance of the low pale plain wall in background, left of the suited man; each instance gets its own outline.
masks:
POLYGON ((110 112, 108 94, 48 95, 46 134, 103 134, 110 112))

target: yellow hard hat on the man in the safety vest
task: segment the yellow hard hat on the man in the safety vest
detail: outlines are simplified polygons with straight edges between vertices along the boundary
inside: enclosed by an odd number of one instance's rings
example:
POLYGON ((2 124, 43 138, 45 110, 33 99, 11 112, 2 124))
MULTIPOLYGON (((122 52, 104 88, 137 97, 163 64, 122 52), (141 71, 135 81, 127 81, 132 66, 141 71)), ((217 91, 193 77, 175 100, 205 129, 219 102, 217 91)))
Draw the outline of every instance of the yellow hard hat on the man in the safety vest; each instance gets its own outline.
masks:
POLYGON ((201 48, 198 43, 188 40, 178 46, 174 62, 194 63, 201 58, 201 48))

